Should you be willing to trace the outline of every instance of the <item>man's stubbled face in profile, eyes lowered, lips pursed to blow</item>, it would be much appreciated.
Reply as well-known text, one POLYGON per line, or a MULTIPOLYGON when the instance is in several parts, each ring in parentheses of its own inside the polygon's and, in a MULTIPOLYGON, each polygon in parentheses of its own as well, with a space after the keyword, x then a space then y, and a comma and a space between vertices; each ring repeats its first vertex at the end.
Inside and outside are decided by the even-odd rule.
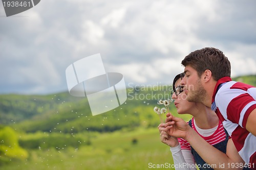
POLYGON ((181 81, 181 85, 184 86, 183 90, 187 94, 187 101, 203 103, 207 93, 202 85, 201 78, 198 77, 197 71, 191 66, 186 66, 184 73, 185 76, 181 81))

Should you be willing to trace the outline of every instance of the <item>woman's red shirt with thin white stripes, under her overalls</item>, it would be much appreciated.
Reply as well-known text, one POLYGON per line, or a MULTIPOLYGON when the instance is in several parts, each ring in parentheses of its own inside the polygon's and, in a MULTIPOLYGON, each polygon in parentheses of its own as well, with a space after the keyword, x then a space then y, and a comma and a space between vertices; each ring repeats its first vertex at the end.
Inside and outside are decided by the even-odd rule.
MULTIPOLYGON (((198 133, 198 131, 195 127, 194 117, 192 118, 191 124, 192 124, 192 129, 194 129, 198 133)), ((224 127, 220 121, 219 121, 217 130, 212 135, 202 136, 200 133, 198 133, 198 134, 211 145, 215 145, 215 144, 220 143, 226 139, 226 133, 225 133, 224 127)), ((186 140, 184 140, 182 138, 178 138, 178 141, 180 143, 182 150, 191 150, 190 144, 186 140)))

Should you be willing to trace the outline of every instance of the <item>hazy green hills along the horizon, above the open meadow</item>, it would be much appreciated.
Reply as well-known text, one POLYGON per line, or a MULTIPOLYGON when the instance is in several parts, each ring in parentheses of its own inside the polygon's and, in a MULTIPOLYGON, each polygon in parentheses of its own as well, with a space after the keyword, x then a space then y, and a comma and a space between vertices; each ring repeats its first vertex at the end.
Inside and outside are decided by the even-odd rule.
MULTIPOLYGON (((256 75, 233 78, 256 86, 256 75)), ((25 132, 61 131, 76 133, 83 130, 115 131, 159 124, 153 108, 159 99, 170 98, 171 86, 139 86, 127 89, 127 100, 120 107, 92 116, 87 98, 77 98, 68 92, 49 95, 0 95, 0 124, 25 132)), ((176 109, 171 105, 173 114, 176 109)), ((183 116, 188 119, 189 116, 183 116)))

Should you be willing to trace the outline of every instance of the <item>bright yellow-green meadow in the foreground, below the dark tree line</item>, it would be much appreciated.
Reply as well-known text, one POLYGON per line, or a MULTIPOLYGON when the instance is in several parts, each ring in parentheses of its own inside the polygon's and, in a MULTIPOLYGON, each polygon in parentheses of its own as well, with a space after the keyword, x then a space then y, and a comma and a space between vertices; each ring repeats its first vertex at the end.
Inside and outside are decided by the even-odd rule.
MULTIPOLYGON (((82 133, 77 135, 88 136, 82 133)), ((90 145, 46 150, 38 148, 29 151, 27 160, 10 160, 1 169, 154 169, 150 165, 173 164, 169 147, 160 141, 157 128, 103 134, 94 132, 90 135, 90 145)))

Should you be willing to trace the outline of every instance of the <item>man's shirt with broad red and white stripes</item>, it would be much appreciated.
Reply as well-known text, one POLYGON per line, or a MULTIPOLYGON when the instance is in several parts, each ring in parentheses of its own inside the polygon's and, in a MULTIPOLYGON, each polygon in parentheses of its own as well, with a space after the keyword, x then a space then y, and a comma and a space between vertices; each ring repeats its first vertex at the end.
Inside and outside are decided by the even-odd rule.
MULTIPOLYGON (((221 78, 215 87, 212 103, 224 128, 231 136, 239 155, 245 163, 256 165, 256 136, 245 129, 247 118, 256 109, 256 87, 221 78), (225 83, 226 82, 226 83, 225 83), (217 91, 220 84, 225 83, 217 91)), ((256 128, 256 125, 255 125, 256 128)))

